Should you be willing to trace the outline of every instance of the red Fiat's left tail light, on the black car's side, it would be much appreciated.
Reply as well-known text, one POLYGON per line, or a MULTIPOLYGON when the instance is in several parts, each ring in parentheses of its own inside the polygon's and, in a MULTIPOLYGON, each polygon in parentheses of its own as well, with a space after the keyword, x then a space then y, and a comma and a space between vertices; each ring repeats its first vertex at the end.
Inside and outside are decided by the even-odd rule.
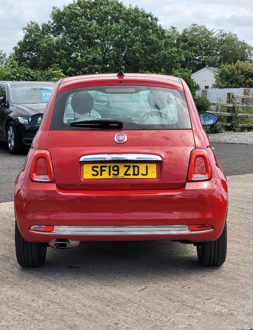
POLYGON ((30 178, 35 182, 54 182, 51 154, 48 150, 36 150, 33 156, 30 178))

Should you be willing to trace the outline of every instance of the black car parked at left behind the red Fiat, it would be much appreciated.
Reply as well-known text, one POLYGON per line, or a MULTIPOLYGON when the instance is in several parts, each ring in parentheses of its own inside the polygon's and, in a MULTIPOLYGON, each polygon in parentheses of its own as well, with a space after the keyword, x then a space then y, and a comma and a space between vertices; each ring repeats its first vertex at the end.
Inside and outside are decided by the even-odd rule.
POLYGON ((0 140, 10 153, 30 147, 38 126, 28 118, 43 114, 55 82, 0 81, 0 140))

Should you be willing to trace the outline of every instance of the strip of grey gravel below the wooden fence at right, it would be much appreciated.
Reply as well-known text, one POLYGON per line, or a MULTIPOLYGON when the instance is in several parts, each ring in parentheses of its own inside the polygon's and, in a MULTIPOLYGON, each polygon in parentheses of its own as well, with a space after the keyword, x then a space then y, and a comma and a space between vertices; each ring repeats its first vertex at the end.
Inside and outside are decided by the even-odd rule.
POLYGON ((253 132, 248 133, 217 133, 208 134, 211 142, 225 142, 225 143, 244 143, 253 144, 253 132))

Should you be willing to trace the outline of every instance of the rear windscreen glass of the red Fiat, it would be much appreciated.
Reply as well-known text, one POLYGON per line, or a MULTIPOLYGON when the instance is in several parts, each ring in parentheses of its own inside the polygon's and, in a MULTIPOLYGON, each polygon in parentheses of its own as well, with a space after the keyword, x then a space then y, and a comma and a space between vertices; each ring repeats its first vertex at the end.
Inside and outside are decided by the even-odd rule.
POLYGON ((59 92, 51 129, 92 129, 70 123, 116 119, 123 129, 189 129, 191 120, 182 91, 148 86, 99 86, 59 92))

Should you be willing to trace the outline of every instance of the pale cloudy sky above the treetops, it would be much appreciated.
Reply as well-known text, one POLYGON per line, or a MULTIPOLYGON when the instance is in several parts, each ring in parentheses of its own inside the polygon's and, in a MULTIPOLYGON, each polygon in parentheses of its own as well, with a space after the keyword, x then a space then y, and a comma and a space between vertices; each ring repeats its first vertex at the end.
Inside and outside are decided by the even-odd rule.
MULTIPOLYGON (((52 7, 72 0, 0 0, 0 49, 9 54, 22 39, 29 21, 42 23, 50 18, 52 7)), ((159 23, 180 32, 192 23, 236 33, 253 46, 253 0, 123 0, 152 12, 159 23)))

